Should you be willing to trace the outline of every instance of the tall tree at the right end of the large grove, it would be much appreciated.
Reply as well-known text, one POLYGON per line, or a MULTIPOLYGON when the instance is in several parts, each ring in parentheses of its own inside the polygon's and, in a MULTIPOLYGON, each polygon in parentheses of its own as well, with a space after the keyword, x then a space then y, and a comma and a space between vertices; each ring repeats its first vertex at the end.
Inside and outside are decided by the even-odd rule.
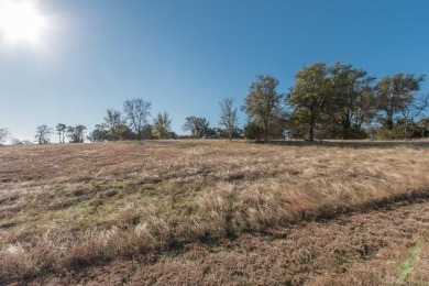
POLYGON ((425 76, 397 74, 382 78, 375 86, 377 108, 384 112, 383 125, 388 130, 394 128, 394 118, 415 100, 414 92, 420 90, 425 76))

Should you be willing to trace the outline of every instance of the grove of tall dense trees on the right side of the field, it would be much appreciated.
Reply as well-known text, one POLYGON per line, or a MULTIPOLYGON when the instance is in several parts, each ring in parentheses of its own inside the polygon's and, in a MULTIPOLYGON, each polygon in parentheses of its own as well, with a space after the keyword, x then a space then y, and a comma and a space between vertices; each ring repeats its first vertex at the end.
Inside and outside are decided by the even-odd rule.
POLYGON ((425 76, 396 74, 378 81, 341 62, 304 66, 287 94, 278 80, 257 76, 243 110, 251 139, 409 139, 428 138, 429 95, 418 95, 425 76))

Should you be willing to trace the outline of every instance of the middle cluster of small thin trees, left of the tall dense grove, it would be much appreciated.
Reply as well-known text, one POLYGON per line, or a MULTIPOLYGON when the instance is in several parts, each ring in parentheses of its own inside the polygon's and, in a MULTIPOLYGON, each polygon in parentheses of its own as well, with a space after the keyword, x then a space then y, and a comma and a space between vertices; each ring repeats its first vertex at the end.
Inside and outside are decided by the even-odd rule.
MULTIPOLYGON (((187 117, 182 128, 189 131, 190 138, 229 138, 240 135, 237 108, 233 99, 226 98, 219 102, 221 114, 219 128, 210 128, 206 118, 187 117)), ((177 139, 172 131, 172 119, 168 112, 158 112, 150 122, 152 105, 141 98, 125 100, 123 110, 108 109, 103 122, 87 136, 91 142, 119 140, 177 139)))

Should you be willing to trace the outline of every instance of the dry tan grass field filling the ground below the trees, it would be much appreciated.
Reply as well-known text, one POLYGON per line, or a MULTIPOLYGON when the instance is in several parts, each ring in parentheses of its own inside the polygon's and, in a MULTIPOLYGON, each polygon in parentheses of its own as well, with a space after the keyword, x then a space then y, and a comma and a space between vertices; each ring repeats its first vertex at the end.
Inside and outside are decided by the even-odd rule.
MULTIPOLYGON (((414 271, 427 265, 418 258, 427 257, 428 250, 425 202, 416 205, 418 210, 405 210, 416 212, 417 224, 391 220, 386 227, 386 217, 374 222, 375 227, 369 223, 367 229, 346 232, 331 229, 333 222, 323 223, 342 213, 358 213, 353 216, 359 221, 374 209, 426 201, 428 174, 428 142, 145 141, 3 146, 0 284, 65 277, 118 263, 131 263, 130 271, 146 267, 148 273, 141 282, 162 284, 168 273, 176 273, 172 278, 180 277, 186 267, 178 271, 178 265, 187 262, 189 266, 188 256, 194 255, 194 261, 204 260, 200 276, 182 276, 206 284, 323 285, 350 277, 356 283, 364 277, 346 275, 349 270, 363 273, 384 265, 372 272, 375 276, 370 283, 425 285, 429 274, 414 271), (385 231, 383 235, 378 229, 385 231), (377 232, 377 239, 366 231, 377 232), (296 244, 287 240, 290 233, 296 244), (267 238, 279 245, 289 241, 286 244, 295 245, 293 252, 277 245, 285 253, 276 256, 280 252, 273 252, 274 246, 270 250, 267 238), (337 250, 334 245, 348 246, 337 250), (223 256, 211 255, 211 251, 223 256), (256 263, 256 268, 216 272, 219 264, 237 268, 239 261, 227 260, 234 251, 246 258, 254 253, 253 260, 242 264, 256 263), (396 253, 387 255, 392 262, 387 266, 383 251, 396 253), (264 261, 256 258, 260 255, 264 261), (264 273, 270 260, 277 265, 275 276, 264 273), (256 270, 272 280, 249 274, 256 270), (213 279, 213 275, 224 277, 213 279)), ((358 222, 351 226, 359 228, 358 222)))

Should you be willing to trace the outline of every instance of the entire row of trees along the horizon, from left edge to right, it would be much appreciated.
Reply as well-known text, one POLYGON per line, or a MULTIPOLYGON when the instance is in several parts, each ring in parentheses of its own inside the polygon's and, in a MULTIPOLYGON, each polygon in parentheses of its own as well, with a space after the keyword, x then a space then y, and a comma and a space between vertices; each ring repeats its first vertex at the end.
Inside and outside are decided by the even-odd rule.
MULTIPOLYGON (((238 125, 238 108, 232 97, 219 102, 219 121, 211 128, 206 118, 187 117, 182 128, 190 138, 272 139, 410 139, 429 136, 427 117, 429 95, 418 94, 425 76, 396 74, 380 80, 362 68, 338 62, 304 66, 295 75, 287 92, 277 91, 279 81, 260 75, 250 85, 241 110, 248 121, 238 125)), ((58 142, 80 143, 119 140, 176 139, 168 112, 158 112, 150 121, 152 103, 141 98, 123 102, 123 109, 106 110, 103 121, 87 136, 86 127, 55 128, 58 142)), ((37 127, 35 142, 50 143, 52 128, 37 127)), ((10 131, 0 128, 0 142, 10 131)), ((16 141, 12 143, 29 143, 16 141)))

